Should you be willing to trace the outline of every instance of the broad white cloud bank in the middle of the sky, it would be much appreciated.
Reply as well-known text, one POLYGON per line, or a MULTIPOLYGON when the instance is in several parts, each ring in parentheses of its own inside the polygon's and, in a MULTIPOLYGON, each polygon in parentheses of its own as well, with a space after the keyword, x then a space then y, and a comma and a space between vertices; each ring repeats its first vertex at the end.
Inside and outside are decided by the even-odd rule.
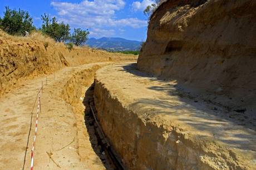
POLYGON ((51 2, 57 11, 57 19, 72 27, 89 28, 91 35, 110 36, 110 27, 146 27, 147 21, 138 18, 116 19, 115 12, 125 7, 123 0, 83 0, 80 3, 51 2), (96 33, 99 32, 99 33, 96 33))

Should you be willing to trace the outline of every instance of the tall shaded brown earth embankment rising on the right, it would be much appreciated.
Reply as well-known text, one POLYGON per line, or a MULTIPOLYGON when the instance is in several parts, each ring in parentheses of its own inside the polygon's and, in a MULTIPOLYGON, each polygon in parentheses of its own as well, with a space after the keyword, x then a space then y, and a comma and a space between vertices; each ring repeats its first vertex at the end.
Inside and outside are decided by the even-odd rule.
POLYGON ((210 100, 229 110, 253 114, 255 8, 250 0, 164 2, 151 17, 139 69, 189 85, 195 94, 214 94, 210 100))

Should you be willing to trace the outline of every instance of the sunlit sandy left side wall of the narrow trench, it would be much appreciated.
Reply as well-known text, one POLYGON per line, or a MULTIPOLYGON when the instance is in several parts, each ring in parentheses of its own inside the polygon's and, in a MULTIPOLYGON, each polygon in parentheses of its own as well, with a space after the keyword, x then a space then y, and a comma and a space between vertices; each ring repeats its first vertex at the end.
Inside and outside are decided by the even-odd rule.
MULTIPOLYGON (((85 108, 85 105, 83 104, 84 101, 81 99, 87 97, 85 96, 85 91, 93 83, 95 71, 107 64, 110 63, 88 64, 87 68, 76 71, 75 74, 67 79, 66 83, 63 85, 61 93, 61 98, 70 105, 68 108, 74 112, 76 117, 78 154, 81 157, 81 161, 86 163, 94 160, 94 162, 90 162, 91 169, 106 169, 103 166, 104 163, 101 162, 99 157, 96 157, 96 154, 105 159, 106 156, 101 154, 100 148, 97 148, 97 150, 93 148, 94 151, 92 150, 92 145, 97 146, 97 138, 95 135, 90 135, 90 137, 88 137, 88 133, 94 134, 95 132, 93 127, 85 125, 85 109, 88 108, 85 108)), ((86 123, 88 124, 88 122, 86 123)))

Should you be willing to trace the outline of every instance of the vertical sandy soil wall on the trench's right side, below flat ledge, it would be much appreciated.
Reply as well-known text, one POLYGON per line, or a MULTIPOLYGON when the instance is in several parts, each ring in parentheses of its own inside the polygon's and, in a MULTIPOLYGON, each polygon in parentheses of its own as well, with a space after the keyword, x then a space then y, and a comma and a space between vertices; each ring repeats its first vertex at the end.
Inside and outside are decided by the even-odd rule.
POLYGON ((161 116, 151 119, 122 96, 96 76, 94 100, 102 129, 128 169, 250 169, 230 148, 186 133, 161 116))

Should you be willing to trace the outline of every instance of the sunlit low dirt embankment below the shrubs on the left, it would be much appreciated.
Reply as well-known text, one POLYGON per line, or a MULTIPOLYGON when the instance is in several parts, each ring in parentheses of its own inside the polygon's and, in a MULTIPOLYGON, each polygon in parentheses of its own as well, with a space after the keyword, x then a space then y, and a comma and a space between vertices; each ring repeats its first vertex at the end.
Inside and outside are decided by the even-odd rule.
POLYGON ((29 37, 13 37, 0 30, 0 94, 8 92, 23 79, 50 74, 63 66, 105 61, 134 60, 136 56, 74 47, 34 33, 29 37))

